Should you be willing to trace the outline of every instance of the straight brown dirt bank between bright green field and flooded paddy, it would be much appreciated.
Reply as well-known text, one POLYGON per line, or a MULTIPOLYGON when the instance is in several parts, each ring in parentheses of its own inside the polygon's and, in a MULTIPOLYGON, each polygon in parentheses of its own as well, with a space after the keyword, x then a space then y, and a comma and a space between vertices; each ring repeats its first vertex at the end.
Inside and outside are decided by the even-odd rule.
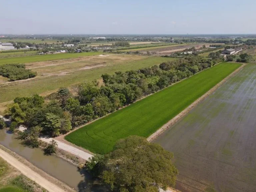
POLYGON ((241 67, 236 69, 233 73, 231 73, 229 76, 227 76, 225 79, 223 79, 221 82, 219 82, 217 85, 215 85, 213 88, 211 88, 209 91, 207 91, 203 96, 199 97, 196 101, 194 101, 191 105, 189 105, 186 109, 184 109, 181 113, 176 115, 174 118, 172 118, 169 122, 164 124, 160 129, 158 129, 155 133, 150 135, 147 140, 149 142, 152 142, 154 139, 156 139, 159 135, 161 135, 164 131, 169 129, 172 125, 174 125, 177 121, 179 121, 182 117, 184 117, 189 111, 191 111, 196 105, 198 105, 201 101, 203 101, 206 97, 211 95, 216 89, 218 89, 223 83, 225 83, 228 79, 230 79, 232 76, 237 74, 246 64, 243 63, 241 67))

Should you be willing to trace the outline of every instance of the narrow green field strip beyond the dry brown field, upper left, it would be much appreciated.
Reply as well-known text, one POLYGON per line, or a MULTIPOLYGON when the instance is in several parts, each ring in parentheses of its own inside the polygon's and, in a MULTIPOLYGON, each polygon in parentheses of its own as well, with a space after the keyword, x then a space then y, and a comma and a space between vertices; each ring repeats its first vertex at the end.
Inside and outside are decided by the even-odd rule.
POLYGON ((58 53, 49 55, 32 55, 25 57, 12 57, 12 58, 0 58, 0 65, 9 63, 32 63, 38 61, 51 61, 58 59, 70 59, 82 56, 99 55, 100 52, 88 52, 88 53, 58 53))

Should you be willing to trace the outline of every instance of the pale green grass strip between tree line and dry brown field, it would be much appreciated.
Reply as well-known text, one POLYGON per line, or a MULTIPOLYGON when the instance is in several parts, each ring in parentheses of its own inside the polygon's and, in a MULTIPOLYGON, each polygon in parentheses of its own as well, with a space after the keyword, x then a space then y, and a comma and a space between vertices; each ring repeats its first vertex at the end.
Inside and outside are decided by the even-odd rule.
MULTIPOLYGON (((69 87, 73 84, 100 79, 104 73, 112 74, 116 71, 137 70, 143 67, 159 65, 162 62, 172 61, 173 58, 142 56, 140 60, 115 63, 106 67, 83 70, 65 76, 50 76, 47 78, 34 78, 29 81, 0 87, 0 103, 10 101, 18 96, 30 96, 56 90, 60 87, 69 87)), ((72 65, 71 65, 72 68, 72 65)))

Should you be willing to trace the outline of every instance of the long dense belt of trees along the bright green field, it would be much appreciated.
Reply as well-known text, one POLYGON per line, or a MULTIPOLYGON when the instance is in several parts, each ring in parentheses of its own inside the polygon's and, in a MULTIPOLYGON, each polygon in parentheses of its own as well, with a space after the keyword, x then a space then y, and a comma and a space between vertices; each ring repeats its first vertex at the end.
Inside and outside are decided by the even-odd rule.
POLYGON ((75 96, 68 88, 60 88, 45 99, 39 95, 17 97, 5 115, 12 119, 11 130, 20 124, 29 127, 32 140, 40 133, 56 137, 220 61, 187 57, 136 71, 103 74, 104 85, 96 81, 78 84, 75 96))

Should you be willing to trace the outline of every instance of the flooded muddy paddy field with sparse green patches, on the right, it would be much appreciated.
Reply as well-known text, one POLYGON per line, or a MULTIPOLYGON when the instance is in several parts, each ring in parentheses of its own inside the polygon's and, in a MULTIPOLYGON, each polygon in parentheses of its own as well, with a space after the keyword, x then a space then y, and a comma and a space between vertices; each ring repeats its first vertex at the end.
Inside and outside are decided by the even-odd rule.
POLYGON ((247 64, 155 142, 172 151, 181 191, 256 189, 256 65, 247 64))

